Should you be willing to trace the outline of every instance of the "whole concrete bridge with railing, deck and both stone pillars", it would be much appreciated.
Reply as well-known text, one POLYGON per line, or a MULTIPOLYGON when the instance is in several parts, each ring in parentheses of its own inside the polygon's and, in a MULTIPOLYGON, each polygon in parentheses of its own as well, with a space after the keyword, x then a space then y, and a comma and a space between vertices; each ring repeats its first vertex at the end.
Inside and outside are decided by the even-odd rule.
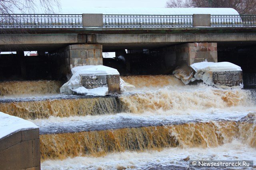
POLYGON ((0 51, 47 51, 63 57, 67 70, 103 64, 102 51, 125 55, 124 49, 129 53, 158 49, 167 65, 174 66, 205 59, 217 62, 217 45, 221 50, 256 45, 256 15, 1 14, 0 18, 0 51))

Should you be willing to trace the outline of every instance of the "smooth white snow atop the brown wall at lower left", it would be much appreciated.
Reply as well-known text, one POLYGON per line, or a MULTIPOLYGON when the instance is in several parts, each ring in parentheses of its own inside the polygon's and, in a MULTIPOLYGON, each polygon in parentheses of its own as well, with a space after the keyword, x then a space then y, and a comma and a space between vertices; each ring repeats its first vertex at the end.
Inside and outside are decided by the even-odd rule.
POLYGON ((0 139, 16 131, 38 128, 34 123, 0 112, 0 139))

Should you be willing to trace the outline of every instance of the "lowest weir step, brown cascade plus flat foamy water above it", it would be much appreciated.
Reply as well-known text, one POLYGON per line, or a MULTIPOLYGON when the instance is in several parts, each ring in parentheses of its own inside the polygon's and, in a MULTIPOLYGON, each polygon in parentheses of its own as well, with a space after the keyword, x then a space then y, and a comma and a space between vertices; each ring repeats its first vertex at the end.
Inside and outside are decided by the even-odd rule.
POLYGON ((105 122, 90 119, 39 123, 41 158, 104 156, 111 152, 161 150, 166 147, 217 147, 234 137, 246 137, 244 134, 253 129, 255 119, 255 115, 212 121, 188 120, 188 116, 174 121, 172 116, 166 117, 134 116, 132 119, 132 116, 120 116, 119 119, 102 118, 106 119, 105 122))

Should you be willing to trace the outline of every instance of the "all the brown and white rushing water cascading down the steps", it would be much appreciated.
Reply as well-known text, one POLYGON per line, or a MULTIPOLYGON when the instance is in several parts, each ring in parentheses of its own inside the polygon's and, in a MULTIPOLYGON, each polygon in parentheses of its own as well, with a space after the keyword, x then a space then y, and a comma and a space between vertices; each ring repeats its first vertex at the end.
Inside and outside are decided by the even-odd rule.
POLYGON ((100 98, 56 94, 45 90, 47 81, 26 96, 14 83, 14 89, 0 89, 0 111, 40 127, 42 169, 186 169, 188 158, 256 161, 253 90, 185 86, 167 75, 122 79, 135 88, 100 98))

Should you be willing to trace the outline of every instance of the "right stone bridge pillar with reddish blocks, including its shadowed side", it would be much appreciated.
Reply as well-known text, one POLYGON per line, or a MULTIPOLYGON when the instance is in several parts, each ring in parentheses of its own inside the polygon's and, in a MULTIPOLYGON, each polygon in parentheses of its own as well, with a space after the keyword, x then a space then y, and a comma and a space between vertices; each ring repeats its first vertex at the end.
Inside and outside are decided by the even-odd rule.
POLYGON ((199 63, 202 61, 218 62, 217 43, 186 43, 176 45, 176 59, 178 64, 199 63))

